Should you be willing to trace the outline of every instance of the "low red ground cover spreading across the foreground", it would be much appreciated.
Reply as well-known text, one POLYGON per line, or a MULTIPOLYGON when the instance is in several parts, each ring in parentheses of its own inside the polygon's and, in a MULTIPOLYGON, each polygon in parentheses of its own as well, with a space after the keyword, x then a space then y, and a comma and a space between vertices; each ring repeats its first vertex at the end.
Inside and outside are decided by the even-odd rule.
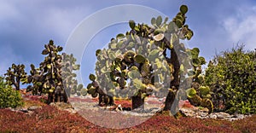
MULTIPOLYGON (((156 114, 143 124, 115 130, 88 122, 79 113, 71 114, 39 101, 26 101, 28 105, 43 106, 28 115, 0 109, 0 132, 256 132, 256 115, 237 121, 218 119, 174 119, 156 114)), ((99 119, 100 120, 100 119, 99 119)))

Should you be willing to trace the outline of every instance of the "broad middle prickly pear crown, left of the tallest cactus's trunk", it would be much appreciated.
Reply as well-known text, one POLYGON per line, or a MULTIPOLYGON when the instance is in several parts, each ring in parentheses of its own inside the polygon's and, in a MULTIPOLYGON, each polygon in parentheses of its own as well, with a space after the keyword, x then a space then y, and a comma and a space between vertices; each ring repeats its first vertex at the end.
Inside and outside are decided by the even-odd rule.
MULTIPOLYGON (((154 36, 154 27, 144 24, 136 26, 134 21, 130 21, 130 26, 130 32, 111 39, 108 49, 96 51, 95 77, 100 90, 105 95, 137 96, 142 100, 153 93, 158 96, 166 94, 163 92, 168 91, 169 84, 166 83, 173 78, 173 66, 165 60, 162 54, 164 49, 154 44, 154 38, 148 37, 149 34, 154 36)), ((142 105, 133 108, 139 106, 142 105)))

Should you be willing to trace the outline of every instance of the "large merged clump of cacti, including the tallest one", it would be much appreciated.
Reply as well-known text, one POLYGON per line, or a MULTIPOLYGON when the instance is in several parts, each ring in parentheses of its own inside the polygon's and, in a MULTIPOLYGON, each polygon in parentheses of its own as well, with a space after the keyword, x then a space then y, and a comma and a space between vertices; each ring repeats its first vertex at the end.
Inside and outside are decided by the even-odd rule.
POLYGON ((212 112, 208 87, 202 86, 201 65, 206 61, 199 57, 199 49, 186 49, 180 42, 193 36, 185 25, 187 11, 182 5, 170 22, 158 16, 152 18, 151 26, 130 20, 130 32, 112 38, 108 49, 96 50, 96 75, 90 74, 87 92, 93 97, 99 94, 100 104, 113 104, 113 97, 129 97, 133 109, 143 107, 148 95, 167 96, 166 110, 175 99, 188 95, 192 104, 212 112))

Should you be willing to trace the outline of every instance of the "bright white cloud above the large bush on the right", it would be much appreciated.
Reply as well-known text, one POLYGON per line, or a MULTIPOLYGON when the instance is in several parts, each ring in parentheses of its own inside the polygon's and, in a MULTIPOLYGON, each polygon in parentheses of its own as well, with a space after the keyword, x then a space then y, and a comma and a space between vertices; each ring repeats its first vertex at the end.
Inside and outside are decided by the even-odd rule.
POLYGON ((256 6, 241 7, 236 15, 226 18, 223 27, 232 43, 244 43, 247 49, 256 48, 256 6))

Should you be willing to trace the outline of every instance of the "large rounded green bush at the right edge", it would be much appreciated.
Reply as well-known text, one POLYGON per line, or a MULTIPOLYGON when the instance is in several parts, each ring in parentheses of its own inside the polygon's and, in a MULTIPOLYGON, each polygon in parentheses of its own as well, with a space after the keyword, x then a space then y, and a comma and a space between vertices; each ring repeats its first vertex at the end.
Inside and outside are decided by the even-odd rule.
POLYGON ((209 62, 206 84, 215 108, 227 113, 256 113, 256 52, 238 46, 209 62))

